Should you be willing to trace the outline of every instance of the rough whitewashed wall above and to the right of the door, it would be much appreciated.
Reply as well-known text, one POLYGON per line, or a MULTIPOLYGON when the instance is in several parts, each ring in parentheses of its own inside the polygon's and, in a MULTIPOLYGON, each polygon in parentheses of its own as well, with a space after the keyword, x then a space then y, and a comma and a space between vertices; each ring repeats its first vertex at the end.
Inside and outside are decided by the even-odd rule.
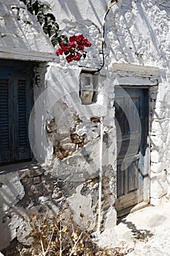
MULTIPOLYGON (((52 5, 66 34, 81 31, 93 43, 92 48, 88 49, 88 58, 80 65, 98 68, 102 63, 102 24, 108 3, 58 1, 52 5)), ((140 79, 146 77, 144 72, 139 75, 140 66, 147 67, 150 78, 152 67, 160 69, 156 75, 158 86, 150 87, 151 203, 160 203, 163 195, 169 197, 169 7, 169 1, 163 0, 120 0, 109 11, 104 30, 105 66, 101 74, 112 80, 113 87, 114 83, 121 86, 123 78, 127 81, 131 77, 128 66, 121 67, 121 64, 135 64, 133 76, 140 79), (115 63, 120 64, 115 68, 116 74, 115 63)), ((61 66, 68 67, 63 56, 60 61, 61 66)))

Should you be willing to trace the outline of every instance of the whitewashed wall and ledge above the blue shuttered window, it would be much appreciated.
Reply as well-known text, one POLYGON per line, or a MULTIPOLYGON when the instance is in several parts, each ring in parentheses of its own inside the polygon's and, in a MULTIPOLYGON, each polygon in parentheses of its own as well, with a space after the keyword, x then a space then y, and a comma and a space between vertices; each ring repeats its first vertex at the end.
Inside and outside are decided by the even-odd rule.
POLYGON ((0 1, 0 58, 52 61, 53 45, 19 0, 0 1))

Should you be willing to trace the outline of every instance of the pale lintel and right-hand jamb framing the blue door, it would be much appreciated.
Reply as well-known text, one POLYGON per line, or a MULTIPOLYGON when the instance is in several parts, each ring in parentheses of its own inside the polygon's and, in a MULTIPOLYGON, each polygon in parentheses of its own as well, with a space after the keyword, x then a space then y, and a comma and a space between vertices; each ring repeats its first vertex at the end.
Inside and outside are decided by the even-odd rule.
MULTIPOLYGON (((143 200, 144 202, 130 209, 131 212, 143 208, 150 203, 150 128, 151 128, 151 94, 158 91, 158 77, 161 73, 161 69, 155 67, 144 67, 136 64, 112 64, 112 80, 114 86, 133 86, 139 89, 148 89, 149 97, 149 117, 148 117, 148 136, 147 136, 147 155, 145 158, 144 175, 147 171, 147 177, 144 178, 143 200)), ((123 216, 127 212, 122 212, 123 216)))

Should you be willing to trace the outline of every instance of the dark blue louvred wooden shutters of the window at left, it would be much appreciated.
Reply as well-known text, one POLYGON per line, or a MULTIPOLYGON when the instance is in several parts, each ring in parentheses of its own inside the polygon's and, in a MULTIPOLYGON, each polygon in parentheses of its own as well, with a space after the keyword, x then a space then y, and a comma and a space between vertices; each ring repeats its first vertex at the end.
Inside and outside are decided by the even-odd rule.
POLYGON ((31 63, 0 61, 0 164, 31 159, 32 69, 31 63))

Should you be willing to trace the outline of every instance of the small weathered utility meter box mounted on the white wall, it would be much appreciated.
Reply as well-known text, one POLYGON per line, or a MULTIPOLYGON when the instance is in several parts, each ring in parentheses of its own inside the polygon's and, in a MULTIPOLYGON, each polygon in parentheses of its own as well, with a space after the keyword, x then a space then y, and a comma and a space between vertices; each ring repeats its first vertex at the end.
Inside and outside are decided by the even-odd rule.
POLYGON ((90 104, 93 101, 93 75, 80 74, 80 99, 82 104, 90 104))

